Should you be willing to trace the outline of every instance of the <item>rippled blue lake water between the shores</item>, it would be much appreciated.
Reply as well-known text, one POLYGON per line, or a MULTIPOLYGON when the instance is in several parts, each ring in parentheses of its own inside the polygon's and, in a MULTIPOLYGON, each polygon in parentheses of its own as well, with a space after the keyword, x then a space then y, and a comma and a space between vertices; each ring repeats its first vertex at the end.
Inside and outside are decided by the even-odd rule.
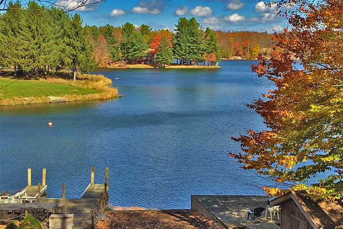
POLYGON ((221 70, 103 70, 126 97, 0 108, 0 190, 40 182, 48 196, 79 198, 110 171, 110 204, 190 208, 194 195, 263 195, 268 180, 240 169, 230 137, 264 128, 245 103, 270 84, 251 73, 256 61, 221 62, 221 70), (119 78, 119 79, 115 79, 119 78), (52 122, 53 127, 47 123, 52 122))

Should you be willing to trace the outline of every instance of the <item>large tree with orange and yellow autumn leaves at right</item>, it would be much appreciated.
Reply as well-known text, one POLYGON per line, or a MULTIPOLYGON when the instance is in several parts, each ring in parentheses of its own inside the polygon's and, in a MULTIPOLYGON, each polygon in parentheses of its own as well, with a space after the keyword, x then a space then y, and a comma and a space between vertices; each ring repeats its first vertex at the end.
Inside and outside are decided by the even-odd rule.
POLYGON ((314 200, 342 201, 342 0, 292 3, 297 4, 284 12, 292 29, 275 34, 271 59, 260 56, 252 66, 274 84, 248 105, 268 129, 233 137, 242 153, 230 155, 244 169, 289 185, 287 190, 265 187, 270 195, 306 189, 314 200), (301 67, 294 67, 294 57, 301 67))

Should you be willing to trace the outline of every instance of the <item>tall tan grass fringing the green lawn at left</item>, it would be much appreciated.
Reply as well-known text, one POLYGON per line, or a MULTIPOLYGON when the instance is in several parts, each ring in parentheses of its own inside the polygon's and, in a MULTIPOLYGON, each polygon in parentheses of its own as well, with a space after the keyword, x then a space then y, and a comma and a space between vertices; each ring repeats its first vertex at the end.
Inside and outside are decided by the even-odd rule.
MULTIPOLYGON (((2 79, 10 78, 0 78, 2 79)), ((12 79, 13 84, 15 85, 15 80, 12 79)), ((76 102, 76 101, 92 101, 92 100, 110 100, 123 97, 118 93, 117 88, 111 87, 112 80, 101 75, 83 75, 78 73, 77 80, 68 80, 63 78, 52 78, 39 79, 39 80, 18 80, 18 81, 27 81, 27 82, 37 82, 37 83, 46 83, 46 85, 51 84, 50 86, 62 86, 67 85, 71 86, 74 91, 76 89, 90 89, 90 91, 97 91, 96 93, 89 94, 59 94, 54 95, 42 95, 42 96, 14 96, 10 98, 0 98, 0 107, 1 106, 13 106, 13 105, 25 105, 25 104, 36 104, 36 103, 53 103, 51 98, 56 97, 60 102, 76 102), (48 83, 48 84, 47 84, 48 83)))

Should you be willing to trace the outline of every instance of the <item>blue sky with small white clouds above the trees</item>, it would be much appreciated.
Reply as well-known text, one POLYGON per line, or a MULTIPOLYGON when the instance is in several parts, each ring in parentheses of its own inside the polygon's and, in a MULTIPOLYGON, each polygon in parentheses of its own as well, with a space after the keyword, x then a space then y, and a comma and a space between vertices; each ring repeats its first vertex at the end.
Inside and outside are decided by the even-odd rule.
POLYGON ((78 13, 87 25, 120 26, 130 22, 171 30, 179 17, 195 17, 214 30, 272 32, 287 26, 276 11, 276 5, 266 7, 259 0, 106 0, 93 8, 81 8, 78 13))

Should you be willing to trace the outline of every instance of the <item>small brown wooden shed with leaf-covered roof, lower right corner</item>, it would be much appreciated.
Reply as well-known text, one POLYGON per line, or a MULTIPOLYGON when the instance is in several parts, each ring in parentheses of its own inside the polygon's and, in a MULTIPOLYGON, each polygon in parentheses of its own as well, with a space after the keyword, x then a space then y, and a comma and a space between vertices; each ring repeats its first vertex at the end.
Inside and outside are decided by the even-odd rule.
POLYGON ((343 204, 314 202, 306 191, 291 191, 270 202, 281 207, 281 229, 343 229, 343 204))

